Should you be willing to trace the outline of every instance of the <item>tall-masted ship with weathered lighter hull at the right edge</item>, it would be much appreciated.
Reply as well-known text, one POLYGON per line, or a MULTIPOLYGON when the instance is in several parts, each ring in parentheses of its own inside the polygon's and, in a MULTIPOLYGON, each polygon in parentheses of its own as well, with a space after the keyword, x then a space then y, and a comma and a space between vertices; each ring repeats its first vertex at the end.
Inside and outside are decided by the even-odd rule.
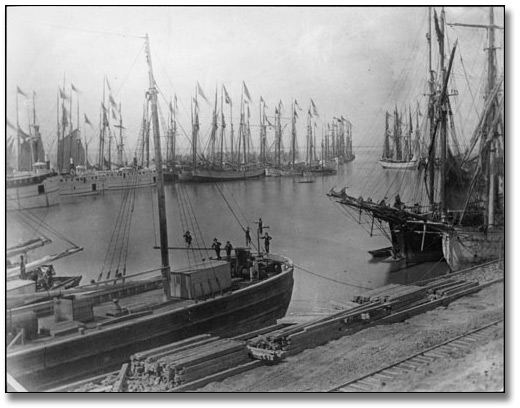
POLYGON ((495 24, 493 7, 487 25, 453 25, 484 28, 488 34, 484 109, 462 164, 472 174, 470 188, 462 210, 449 214, 443 231, 444 257, 452 270, 459 270, 504 257, 504 75, 495 44, 503 27, 495 24))

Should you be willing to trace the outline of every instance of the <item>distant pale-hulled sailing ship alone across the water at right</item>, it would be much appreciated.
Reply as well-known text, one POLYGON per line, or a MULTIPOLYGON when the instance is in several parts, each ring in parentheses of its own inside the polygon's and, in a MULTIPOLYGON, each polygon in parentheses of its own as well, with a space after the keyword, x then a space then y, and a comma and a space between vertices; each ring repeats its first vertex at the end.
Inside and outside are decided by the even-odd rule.
MULTIPOLYGON (((411 114, 410 114, 411 116, 411 114)), ((419 162, 419 140, 412 140, 413 124, 410 117, 409 131, 403 135, 402 115, 395 108, 393 115, 393 132, 390 131, 391 115, 385 113, 385 139, 383 145, 383 156, 379 164, 384 169, 406 170, 416 169, 419 162)))

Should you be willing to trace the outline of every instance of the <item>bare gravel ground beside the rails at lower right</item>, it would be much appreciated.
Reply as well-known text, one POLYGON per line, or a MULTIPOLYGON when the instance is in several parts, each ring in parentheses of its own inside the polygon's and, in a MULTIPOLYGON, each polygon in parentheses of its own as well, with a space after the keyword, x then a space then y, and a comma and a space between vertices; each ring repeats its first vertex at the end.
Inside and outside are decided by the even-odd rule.
MULTIPOLYGON (((478 280, 503 276, 491 266, 478 280)), ((468 278, 468 276, 466 276, 468 278)), ((376 326, 212 383, 198 392, 322 392, 413 352, 447 341, 504 317, 504 284, 492 284, 402 323, 376 326)), ((500 392, 504 389, 504 330, 495 328, 471 350, 453 353, 404 377, 382 384, 378 392, 500 392)))

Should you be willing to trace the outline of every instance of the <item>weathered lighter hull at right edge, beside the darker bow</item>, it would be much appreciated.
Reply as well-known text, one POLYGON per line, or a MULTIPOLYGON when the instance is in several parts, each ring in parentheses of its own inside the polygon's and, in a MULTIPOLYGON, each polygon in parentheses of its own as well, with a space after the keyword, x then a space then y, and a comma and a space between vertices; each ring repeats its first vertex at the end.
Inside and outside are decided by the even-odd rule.
POLYGON ((457 228, 443 235, 442 249, 452 271, 504 257, 504 229, 487 232, 457 228))

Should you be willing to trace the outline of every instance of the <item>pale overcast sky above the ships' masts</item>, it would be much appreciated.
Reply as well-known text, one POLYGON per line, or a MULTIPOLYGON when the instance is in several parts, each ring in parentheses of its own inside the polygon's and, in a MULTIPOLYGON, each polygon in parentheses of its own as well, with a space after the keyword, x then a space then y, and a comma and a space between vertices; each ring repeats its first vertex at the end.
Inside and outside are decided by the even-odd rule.
MULTIPOLYGON (((501 12, 497 10, 496 19, 503 24, 501 12)), ((447 8, 446 14, 448 21, 466 23, 484 24, 488 18, 487 10, 478 7, 447 8)), ((245 81, 253 99, 252 124, 258 123, 260 96, 269 107, 269 116, 282 100, 287 118, 296 98, 304 109, 298 127, 304 133, 312 98, 320 114, 316 118, 319 128, 333 116, 343 115, 353 123, 354 145, 379 146, 384 111, 395 105, 413 107, 424 99, 427 21, 425 7, 9 8, 7 116, 16 122, 17 86, 28 94, 36 92, 38 121, 50 149, 56 138, 56 95, 65 80, 67 91, 71 83, 81 91, 80 115, 85 113, 95 124, 96 129, 86 132, 96 145, 106 76, 116 101, 122 104, 130 153, 148 87, 142 38, 148 33, 161 98, 164 102, 177 95, 179 121, 187 133, 197 81, 211 103, 215 88, 225 84, 234 102, 235 126, 245 81)), ((447 29, 450 46, 461 39, 454 73, 461 97, 467 95, 467 84, 478 84, 483 74, 482 31, 447 29)), ((481 99, 481 88, 472 92, 473 98, 481 99)), ((19 103, 21 110, 27 109, 24 98, 19 103)), ((201 103, 203 135, 210 125, 211 109, 201 103)), ((73 112, 76 122, 75 106, 73 112)), ((24 113, 22 126, 27 121, 24 113)), ((80 122, 83 126, 83 119, 80 122)), ((252 129, 253 137, 257 132, 252 129)))

